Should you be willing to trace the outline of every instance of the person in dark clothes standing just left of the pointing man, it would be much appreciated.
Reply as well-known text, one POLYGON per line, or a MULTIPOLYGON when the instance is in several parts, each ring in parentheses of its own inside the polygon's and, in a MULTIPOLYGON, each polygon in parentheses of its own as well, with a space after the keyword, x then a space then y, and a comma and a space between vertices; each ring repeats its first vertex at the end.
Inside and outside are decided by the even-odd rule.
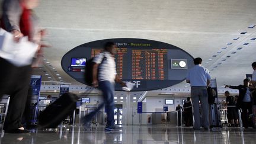
POLYGON ((238 111, 235 107, 235 98, 229 94, 229 91, 225 91, 226 105, 228 106, 228 121, 231 123, 231 127, 238 127, 238 111))

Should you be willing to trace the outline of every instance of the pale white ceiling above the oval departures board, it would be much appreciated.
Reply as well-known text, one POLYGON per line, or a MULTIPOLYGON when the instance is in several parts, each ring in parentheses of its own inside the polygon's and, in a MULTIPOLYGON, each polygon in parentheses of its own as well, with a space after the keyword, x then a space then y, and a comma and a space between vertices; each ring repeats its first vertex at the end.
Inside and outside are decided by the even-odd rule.
POLYGON ((256 27, 248 28, 256 25, 255 8, 255 0, 44 0, 36 14, 41 26, 47 28, 46 42, 52 47, 45 49, 44 66, 34 74, 48 81, 44 74, 49 73, 52 81, 59 81, 59 73, 63 81, 80 84, 60 66, 66 52, 89 41, 129 37, 178 46, 193 57, 201 57, 203 63, 209 62, 205 66, 213 69, 210 72, 219 87, 239 85, 246 73, 252 73, 251 63, 256 61, 256 40, 250 40, 256 37, 256 27), (243 31, 247 33, 240 34, 243 31))

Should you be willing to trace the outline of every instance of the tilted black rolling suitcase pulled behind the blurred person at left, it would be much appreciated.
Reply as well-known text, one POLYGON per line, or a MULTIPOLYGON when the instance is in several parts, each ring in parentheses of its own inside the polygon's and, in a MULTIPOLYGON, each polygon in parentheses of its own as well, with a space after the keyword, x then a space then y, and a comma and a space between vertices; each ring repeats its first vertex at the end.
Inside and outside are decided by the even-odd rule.
POLYGON ((78 97, 75 94, 65 93, 61 95, 55 102, 50 104, 39 115, 40 128, 56 128, 62 120, 72 114, 76 108, 78 97))

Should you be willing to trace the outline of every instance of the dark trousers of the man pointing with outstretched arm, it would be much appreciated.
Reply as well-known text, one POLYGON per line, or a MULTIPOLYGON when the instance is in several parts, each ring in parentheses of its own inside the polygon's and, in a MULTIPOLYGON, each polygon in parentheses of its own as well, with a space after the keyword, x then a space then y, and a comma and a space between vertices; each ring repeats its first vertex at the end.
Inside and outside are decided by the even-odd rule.
POLYGON ((242 102, 242 123, 244 127, 248 127, 252 124, 252 120, 249 120, 249 114, 252 114, 252 103, 251 102, 242 102), (248 113, 247 113, 248 110, 248 113))

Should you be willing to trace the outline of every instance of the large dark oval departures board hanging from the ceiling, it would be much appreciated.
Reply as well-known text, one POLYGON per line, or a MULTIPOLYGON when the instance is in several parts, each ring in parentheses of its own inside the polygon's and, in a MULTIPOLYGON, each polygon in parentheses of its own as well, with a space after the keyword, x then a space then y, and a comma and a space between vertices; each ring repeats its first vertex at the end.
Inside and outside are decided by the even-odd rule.
MULTIPOLYGON (((170 87, 184 81, 193 57, 168 43, 145 39, 105 39, 81 44, 62 57, 62 69, 72 78, 85 83, 87 60, 103 52, 107 41, 116 43, 117 75, 135 84, 132 91, 148 91, 170 87)), ((116 90, 122 91, 116 84, 116 90)))

